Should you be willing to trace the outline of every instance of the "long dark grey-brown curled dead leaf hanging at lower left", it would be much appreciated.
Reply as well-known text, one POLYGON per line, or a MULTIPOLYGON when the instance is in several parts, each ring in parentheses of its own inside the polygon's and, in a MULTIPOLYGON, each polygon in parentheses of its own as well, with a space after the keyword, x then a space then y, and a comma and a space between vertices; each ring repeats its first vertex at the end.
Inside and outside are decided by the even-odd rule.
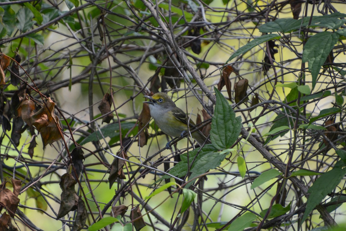
POLYGON ((60 180, 60 188, 62 190, 61 193, 61 204, 59 208, 58 215, 56 219, 60 219, 65 216, 70 211, 75 210, 78 207, 78 199, 79 197, 74 191, 74 185, 76 181, 74 180, 71 174, 65 173, 61 176, 60 180))

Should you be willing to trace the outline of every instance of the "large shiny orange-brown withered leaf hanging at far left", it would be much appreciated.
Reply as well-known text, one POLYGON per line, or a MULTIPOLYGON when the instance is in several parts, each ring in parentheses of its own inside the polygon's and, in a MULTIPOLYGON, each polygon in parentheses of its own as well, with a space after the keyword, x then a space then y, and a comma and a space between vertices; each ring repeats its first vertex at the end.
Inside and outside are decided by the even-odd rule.
POLYGON ((44 106, 31 116, 31 123, 41 133, 44 146, 61 139, 61 127, 58 118, 54 115, 54 105, 53 100, 48 98, 44 106))

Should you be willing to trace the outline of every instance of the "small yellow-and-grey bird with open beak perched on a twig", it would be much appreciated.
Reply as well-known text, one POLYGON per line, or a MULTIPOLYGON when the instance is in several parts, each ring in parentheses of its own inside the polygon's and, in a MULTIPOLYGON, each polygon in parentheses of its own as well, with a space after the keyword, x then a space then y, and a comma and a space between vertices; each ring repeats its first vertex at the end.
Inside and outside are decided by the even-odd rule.
MULTIPOLYGON (((182 109, 177 107, 173 100, 164 92, 155 93, 153 96, 144 96, 150 101, 144 103, 149 104, 150 114, 153 117, 157 126, 167 135, 174 137, 184 137, 189 130, 193 130, 196 125, 189 119, 182 109)), ((193 132, 192 138, 197 141, 199 145, 210 143, 210 140, 199 130, 193 132)), ((171 149, 170 142, 166 144, 167 149, 171 149)))

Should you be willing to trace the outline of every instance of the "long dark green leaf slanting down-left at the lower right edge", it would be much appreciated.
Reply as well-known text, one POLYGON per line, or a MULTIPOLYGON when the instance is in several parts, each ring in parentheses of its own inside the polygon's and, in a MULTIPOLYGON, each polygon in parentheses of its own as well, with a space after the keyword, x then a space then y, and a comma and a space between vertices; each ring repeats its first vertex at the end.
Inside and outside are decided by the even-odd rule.
POLYGON ((324 199, 328 193, 335 189, 335 187, 344 178, 345 174, 346 168, 334 168, 317 178, 317 180, 308 190, 310 195, 301 223, 308 218, 309 214, 316 207, 316 205, 321 203, 322 199, 324 199))

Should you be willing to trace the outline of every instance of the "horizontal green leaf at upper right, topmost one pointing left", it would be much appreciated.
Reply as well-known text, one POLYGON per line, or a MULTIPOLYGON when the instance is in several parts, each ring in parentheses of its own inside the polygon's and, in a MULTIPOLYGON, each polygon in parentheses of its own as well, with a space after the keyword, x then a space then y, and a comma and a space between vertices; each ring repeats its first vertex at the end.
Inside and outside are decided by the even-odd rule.
POLYGON ((273 33, 273 32, 282 32, 288 33, 293 30, 298 30, 301 26, 301 20, 292 19, 292 18, 281 18, 274 21, 259 26, 258 29, 262 33, 273 33))

